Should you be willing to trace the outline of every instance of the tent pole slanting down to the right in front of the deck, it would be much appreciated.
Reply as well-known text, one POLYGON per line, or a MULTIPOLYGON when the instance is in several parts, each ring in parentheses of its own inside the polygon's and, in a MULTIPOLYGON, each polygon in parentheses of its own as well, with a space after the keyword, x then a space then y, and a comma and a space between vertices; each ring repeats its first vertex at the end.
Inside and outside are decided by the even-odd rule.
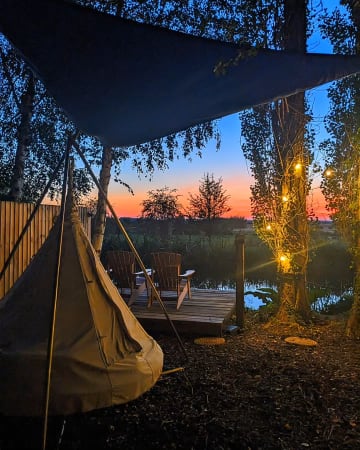
POLYGON ((74 142, 73 142, 73 146, 75 147, 75 149, 76 149, 76 151, 78 152, 80 158, 82 159, 83 163, 85 164, 86 169, 89 171, 89 173, 90 173, 90 175, 91 175, 91 177, 92 177, 94 183, 96 184, 97 188, 99 189, 99 192, 100 192, 101 195, 104 197, 104 199, 105 199, 105 201, 106 201, 106 204, 107 204, 108 208, 110 209, 111 214, 113 215, 113 218, 115 219, 118 228, 119 228, 119 229, 121 230, 121 232, 123 233, 123 235, 124 235, 124 237, 125 237, 125 239, 126 239, 128 245, 129 245, 131 251, 134 253, 135 258, 136 258, 136 260, 137 260, 137 262, 138 262, 138 264, 139 264, 141 270, 142 270, 143 273, 144 273, 144 276, 145 276, 145 278, 146 278, 146 281, 147 281, 147 282, 149 283, 149 285, 151 286, 152 292, 155 293, 156 300, 159 302, 159 304, 160 304, 160 306, 161 306, 161 309, 163 310, 163 312, 164 312, 164 314, 165 314, 167 320, 169 321, 169 323, 170 323, 170 325, 171 325, 171 328, 172 328, 172 330, 174 331, 175 336, 176 336, 176 338, 177 338, 177 340, 178 340, 178 342, 179 342, 179 344, 180 344, 180 347, 181 347, 181 349, 182 349, 182 351, 183 351, 183 353, 184 353, 184 355, 185 355, 185 358, 187 359, 186 350, 185 350, 185 347, 184 347, 184 345, 183 345, 183 343, 182 343, 182 341, 181 341, 181 339, 180 339, 179 333, 177 332, 177 330, 176 330, 176 328, 175 328, 175 326, 174 326, 174 324, 173 324, 173 321, 171 320, 171 318, 170 318, 168 312, 166 311, 164 302, 161 300, 160 294, 159 294, 158 290, 156 289, 156 287, 155 287, 155 285, 154 285, 154 282, 153 282, 152 278, 151 278, 150 275, 147 273, 146 267, 145 267, 145 265, 144 265, 144 263, 143 263, 143 261, 142 261, 140 255, 139 255, 138 251, 136 250, 136 248, 135 248, 135 246, 134 246, 134 244, 133 244, 133 242, 132 242, 130 236, 128 235, 126 229, 124 228, 124 225, 120 222, 119 218, 116 216, 116 213, 115 213, 114 208, 112 207, 111 203, 109 202, 109 200, 108 200, 108 198, 107 198, 107 195, 105 194, 104 190, 103 190, 102 187, 100 186, 100 183, 99 183, 98 179, 96 178, 96 176, 95 176, 95 174, 94 174, 94 172, 93 172, 93 170, 92 170, 90 164, 89 164, 88 161, 86 160, 84 153, 83 153, 82 150, 80 149, 79 144, 77 144, 77 143, 74 141, 74 142))

